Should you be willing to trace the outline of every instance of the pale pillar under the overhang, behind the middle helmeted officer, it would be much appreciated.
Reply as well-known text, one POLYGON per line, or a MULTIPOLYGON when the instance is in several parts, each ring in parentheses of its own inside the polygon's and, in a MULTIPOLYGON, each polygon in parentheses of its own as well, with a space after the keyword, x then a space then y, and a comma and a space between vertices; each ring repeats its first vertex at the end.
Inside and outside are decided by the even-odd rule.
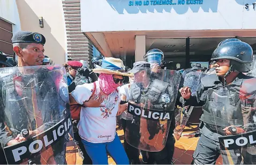
POLYGON ((146 35, 135 36, 135 62, 144 61, 143 56, 146 54, 146 35))

